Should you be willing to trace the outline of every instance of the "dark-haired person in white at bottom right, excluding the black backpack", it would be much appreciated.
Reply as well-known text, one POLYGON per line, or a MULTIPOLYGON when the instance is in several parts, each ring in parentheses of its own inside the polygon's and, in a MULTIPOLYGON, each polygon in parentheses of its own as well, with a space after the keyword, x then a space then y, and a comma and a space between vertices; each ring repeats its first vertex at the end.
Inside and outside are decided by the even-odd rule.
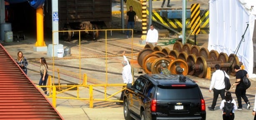
POLYGON ((227 92, 225 99, 221 101, 221 106, 220 109, 222 110, 222 118, 223 120, 234 120, 235 118, 235 110, 237 110, 237 106, 236 106, 236 101, 232 98, 231 93, 227 92), (223 112, 224 106, 225 106, 225 102, 228 103, 233 103, 233 110, 230 116, 227 116, 226 113, 223 112))

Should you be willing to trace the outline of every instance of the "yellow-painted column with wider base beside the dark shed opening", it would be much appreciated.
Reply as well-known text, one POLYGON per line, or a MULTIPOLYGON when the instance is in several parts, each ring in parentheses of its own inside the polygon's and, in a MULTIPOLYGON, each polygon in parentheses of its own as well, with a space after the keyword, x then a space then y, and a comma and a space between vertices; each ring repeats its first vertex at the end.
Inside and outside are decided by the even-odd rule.
POLYGON ((45 41, 43 39, 43 8, 40 7, 36 9, 36 32, 37 32, 37 40, 35 43, 36 47, 46 46, 45 41))

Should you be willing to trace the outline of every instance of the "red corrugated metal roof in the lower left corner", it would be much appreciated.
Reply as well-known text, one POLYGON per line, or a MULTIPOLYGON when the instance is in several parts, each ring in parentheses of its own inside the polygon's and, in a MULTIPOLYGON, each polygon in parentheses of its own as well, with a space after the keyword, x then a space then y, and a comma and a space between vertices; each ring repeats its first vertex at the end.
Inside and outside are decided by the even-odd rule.
POLYGON ((0 119, 63 120, 1 44, 0 119))

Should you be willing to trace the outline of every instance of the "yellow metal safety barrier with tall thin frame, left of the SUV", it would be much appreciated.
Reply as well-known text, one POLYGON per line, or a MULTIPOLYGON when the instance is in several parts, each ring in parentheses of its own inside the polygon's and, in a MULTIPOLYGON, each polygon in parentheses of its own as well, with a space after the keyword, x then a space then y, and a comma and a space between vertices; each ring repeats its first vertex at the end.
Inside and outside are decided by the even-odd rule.
MULTIPOLYGON (((132 36, 133 36, 133 29, 118 29, 119 31, 123 31, 123 30, 131 30, 132 31, 132 36)), ((57 68, 57 70, 55 70, 55 58, 53 55, 53 78, 49 75, 48 77, 48 84, 47 86, 38 86, 38 87, 48 87, 48 90, 50 92, 49 96, 47 97, 52 97, 53 99, 53 106, 56 107, 56 99, 75 99, 75 100, 90 100, 90 108, 93 108, 93 101, 94 100, 100 100, 100 101, 112 101, 112 102, 123 102, 120 100, 110 100, 111 97, 113 97, 114 95, 118 94, 119 92, 121 92, 122 90, 125 90, 125 88, 123 88, 122 90, 116 90, 116 92, 114 92, 112 95, 108 94, 108 87, 121 87, 121 86, 125 86, 126 84, 108 84, 108 61, 107 61, 107 31, 118 31, 118 30, 98 30, 98 31, 104 31, 105 32, 105 70, 106 70, 106 75, 105 75, 105 84, 93 84, 93 85, 88 85, 87 83, 87 74, 83 74, 83 82, 81 81, 81 53, 79 53, 79 79, 80 79, 80 83, 78 85, 61 85, 60 83, 60 69, 57 68), (58 85, 55 85, 54 83, 54 74, 55 72, 58 73, 58 85), (66 87, 66 89, 62 89, 66 87), (79 87, 83 87, 84 89, 89 89, 89 97, 88 98, 81 98, 80 97, 80 91, 84 90, 81 89, 79 87), (95 87, 104 87, 104 98, 95 98, 93 96, 93 90, 95 89, 95 87), (58 88, 58 91, 56 91, 58 88), (68 90, 72 90, 73 88, 77 88, 77 95, 75 97, 59 97, 58 94, 63 93, 63 92, 67 92, 68 90)), ((80 32, 85 32, 85 31, 96 31, 96 30, 69 30, 72 32, 79 32, 79 49, 80 49, 80 32)), ((69 32, 69 31, 53 31, 54 32, 69 32)), ((53 39, 54 40, 54 39, 53 39)), ((53 48, 54 50, 54 48, 53 48)), ((80 51, 80 50, 79 50, 80 51)), ((133 60, 133 37, 131 39, 131 56, 132 56, 132 60, 133 60)), ((54 54, 54 53, 53 53, 54 54)), ((84 94, 84 93, 83 93, 84 94)))

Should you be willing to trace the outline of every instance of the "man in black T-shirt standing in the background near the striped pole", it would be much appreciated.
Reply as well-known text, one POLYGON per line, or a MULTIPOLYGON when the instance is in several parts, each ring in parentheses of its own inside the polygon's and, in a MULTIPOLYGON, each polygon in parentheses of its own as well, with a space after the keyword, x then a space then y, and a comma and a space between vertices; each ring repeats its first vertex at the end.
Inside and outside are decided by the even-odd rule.
MULTIPOLYGON (((127 29, 133 29, 136 22, 136 12, 133 11, 133 6, 129 7, 129 11, 126 13, 126 25, 127 29)), ((129 38, 129 31, 126 32, 126 37, 129 38)))

